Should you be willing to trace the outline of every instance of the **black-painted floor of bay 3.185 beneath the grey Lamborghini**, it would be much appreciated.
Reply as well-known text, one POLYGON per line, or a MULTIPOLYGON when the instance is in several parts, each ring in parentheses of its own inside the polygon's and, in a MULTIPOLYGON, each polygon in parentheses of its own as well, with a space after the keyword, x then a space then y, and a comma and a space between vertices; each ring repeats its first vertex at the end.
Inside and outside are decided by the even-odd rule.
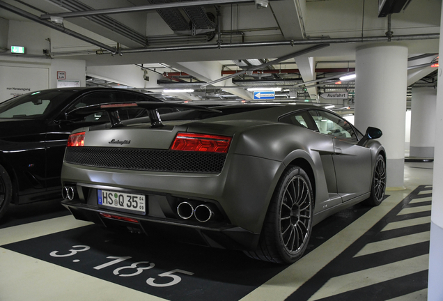
MULTIPOLYGON (((357 204, 314 226, 306 254, 352 224, 369 209, 370 207, 357 204)), ((287 267, 256 261, 242 252, 185 245, 169 240, 153 240, 143 235, 110 232, 95 225, 1 247, 167 300, 240 300, 287 267), (80 251, 85 247, 73 246, 88 246, 90 249, 80 251), (55 255, 59 257, 50 255, 54 251, 58 251, 55 255), (61 257, 66 254, 72 255, 61 257), (94 269, 119 260, 107 258, 109 256, 132 258, 100 270, 94 269), (141 261, 149 263, 139 263, 135 268, 117 270, 141 261), (137 268, 146 268, 150 263, 154 263, 155 267, 142 270, 139 275, 119 276, 133 274, 137 272, 137 268), (194 274, 174 273, 173 275, 179 276, 181 281, 173 286, 153 287, 146 283, 151 277, 155 278, 155 283, 162 280, 171 281, 172 277, 159 275, 176 269, 194 274), (116 270, 118 275, 114 275, 116 270)))

